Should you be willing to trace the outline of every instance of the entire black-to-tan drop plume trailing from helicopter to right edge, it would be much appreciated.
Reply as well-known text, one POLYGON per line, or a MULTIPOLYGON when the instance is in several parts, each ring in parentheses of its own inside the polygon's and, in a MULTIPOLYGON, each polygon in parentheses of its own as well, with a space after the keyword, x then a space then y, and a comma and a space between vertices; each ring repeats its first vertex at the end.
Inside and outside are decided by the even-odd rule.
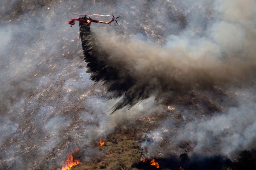
POLYGON ((184 51, 129 40, 113 32, 99 36, 83 30, 81 34, 91 80, 103 81, 111 92, 110 98, 122 97, 113 112, 125 106, 131 108, 150 96, 156 100, 163 96, 173 98, 192 89, 226 86, 235 79, 244 80, 243 84, 255 79, 255 64, 250 59, 242 63, 215 61, 210 57, 195 60, 184 51))

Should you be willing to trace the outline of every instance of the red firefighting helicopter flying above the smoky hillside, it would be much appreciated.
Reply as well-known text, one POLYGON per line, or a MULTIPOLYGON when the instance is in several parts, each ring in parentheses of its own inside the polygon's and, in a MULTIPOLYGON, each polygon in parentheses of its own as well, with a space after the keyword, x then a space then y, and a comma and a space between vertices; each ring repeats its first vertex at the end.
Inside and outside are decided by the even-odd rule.
MULTIPOLYGON (((110 20, 110 22, 104 22, 104 21, 94 20, 91 17, 87 18, 87 16, 95 16, 95 17, 104 16, 105 17, 105 16, 110 16, 110 15, 99 15, 98 13, 93 14, 93 15, 86 15, 86 14, 81 15, 81 14, 74 13, 74 15, 78 15, 79 17, 78 18, 71 18, 68 21, 68 23, 70 24, 70 27, 72 27, 73 25, 75 25, 75 21, 79 21, 79 36, 78 36, 78 39, 80 38, 80 28, 81 28, 81 26, 87 26, 87 28, 90 28, 92 22, 102 23, 102 24, 111 24, 111 22, 116 21, 116 19, 119 18, 119 17, 115 18, 114 15, 112 15, 113 18, 110 20)), ((116 23, 117 23, 117 21, 116 21, 116 23)))

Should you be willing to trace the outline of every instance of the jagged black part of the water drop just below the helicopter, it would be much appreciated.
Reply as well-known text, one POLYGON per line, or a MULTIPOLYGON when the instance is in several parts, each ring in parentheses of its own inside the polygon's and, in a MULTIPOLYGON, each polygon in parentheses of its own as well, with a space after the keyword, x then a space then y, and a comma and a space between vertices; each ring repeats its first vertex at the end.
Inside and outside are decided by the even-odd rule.
MULTIPOLYGON (((106 60, 109 54, 100 48, 100 42, 95 40, 95 35, 90 32, 89 29, 81 29, 81 41, 84 50, 84 60, 87 63, 87 71, 91 73, 91 80, 104 81, 104 85, 107 87, 107 91, 112 92, 110 98, 119 98, 124 94, 122 102, 118 102, 114 108, 114 111, 123 108, 126 105, 133 106, 139 100, 148 98, 145 95, 145 89, 139 92, 132 92, 132 87, 135 84, 135 80, 128 76, 122 76, 119 69, 107 64, 106 60), (144 94, 144 95, 143 95, 144 94), (142 96, 142 97, 139 97, 142 96)), ((113 111, 113 112, 114 112, 113 111)))

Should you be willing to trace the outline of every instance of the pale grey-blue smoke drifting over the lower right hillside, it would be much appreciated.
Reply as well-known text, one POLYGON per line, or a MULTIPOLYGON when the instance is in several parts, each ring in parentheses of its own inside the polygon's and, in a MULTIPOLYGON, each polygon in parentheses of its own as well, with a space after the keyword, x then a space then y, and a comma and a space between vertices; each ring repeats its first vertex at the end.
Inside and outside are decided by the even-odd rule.
POLYGON ((149 157, 155 154, 166 157, 171 151, 185 151, 205 155, 222 153, 235 159, 233 154, 236 151, 250 148, 256 139, 255 90, 236 89, 235 99, 239 106, 223 109, 212 116, 204 112, 198 117, 191 110, 185 109, 181 113, 180 107, 169 107, 175 117, 169 117, 158 128, 147 132, 151 140, 142 146, 148 149, 149 157), (180 115, 178 124, 176 114, 180 115), (164 146, 159 150, 159 145, 164 146))

